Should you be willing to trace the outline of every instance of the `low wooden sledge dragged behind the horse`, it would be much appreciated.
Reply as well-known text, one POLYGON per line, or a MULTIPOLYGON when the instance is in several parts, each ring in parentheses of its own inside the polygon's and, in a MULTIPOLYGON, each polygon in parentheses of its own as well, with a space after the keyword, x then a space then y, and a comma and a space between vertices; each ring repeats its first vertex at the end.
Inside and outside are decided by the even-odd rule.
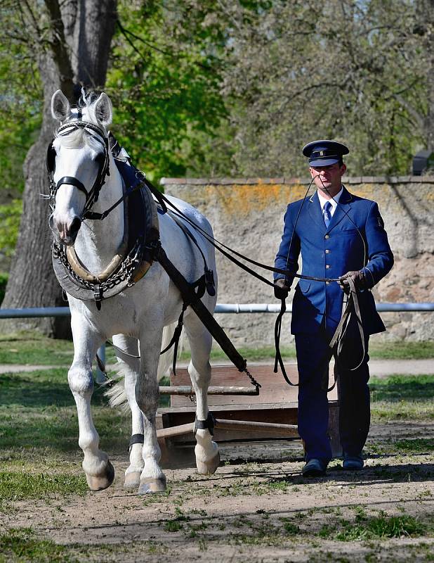
MULTIPOLYGON (((296 363, 287 363, 285 367, 291 381, 298 381, 296 363)), ((255 388, 250 386, 246 374, 240 373, 236 367, 212 367, 208 400, 209 410, 217 419, 214 441, 235 443, 300 439, 296 426, 298 387, 289 386, 282 374, 275 374, 272 369, 273 366, 268 364, 249 365, 249 371, 262 385, 257 396, 246 394, 254 393, 255 388), (241 387, 244 391, 240 391, 241 387)), ((191 381, 186 368, 178 368, 176 376, 171 373, 171 405, 159 408, 157 412, 157 437, 164 468, 195 467, 195 404, 188 396, 190 389, 191 381)), ((169 388, 166 392, 169 393, 169 388)), ((342 448, 338 432, 337 386, 329 392, 328 398, 331 450, 334 457, 339 457, 342 448)))

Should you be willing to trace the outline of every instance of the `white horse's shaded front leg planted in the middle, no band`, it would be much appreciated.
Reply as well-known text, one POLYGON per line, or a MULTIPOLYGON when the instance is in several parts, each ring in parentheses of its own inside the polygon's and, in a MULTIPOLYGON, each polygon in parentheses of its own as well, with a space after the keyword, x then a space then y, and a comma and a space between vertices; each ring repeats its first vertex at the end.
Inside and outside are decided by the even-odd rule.
POLYGON ((143 414, 144 467, 140 475, 139 495, 166 491, 166 476, 159 467, 162 454, 155 426, 159 399, 157 368, 162 332, 162 323, 152 322, 140 335, 140 372, 136 382, 136 401, 143 414))

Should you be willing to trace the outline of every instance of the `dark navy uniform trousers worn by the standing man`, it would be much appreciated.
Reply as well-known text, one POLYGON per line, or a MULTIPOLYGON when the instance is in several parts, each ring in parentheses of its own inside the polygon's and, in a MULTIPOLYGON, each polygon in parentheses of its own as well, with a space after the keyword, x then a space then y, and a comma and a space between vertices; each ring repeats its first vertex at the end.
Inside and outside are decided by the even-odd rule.
MULTIPOLYGON (((343 451, 360 454, 369 432, 369 368, 367 354, 369 336, 365 336, 362 365, 360 336, 348 334, 342 353, 338 358, 339 434, 343 451), (352 337, 353 336, 353 337, 352 337)), ((295 335, 298 363, 298 433, 305 443, 305 460, 316 458, 327 464, 331 460, 329 425, 329 403, 327 384, 331 350, 329 341, 333 332, 324 324, 316 334, 295 335), (324 377, 324 374, 325 375, 324 377)))

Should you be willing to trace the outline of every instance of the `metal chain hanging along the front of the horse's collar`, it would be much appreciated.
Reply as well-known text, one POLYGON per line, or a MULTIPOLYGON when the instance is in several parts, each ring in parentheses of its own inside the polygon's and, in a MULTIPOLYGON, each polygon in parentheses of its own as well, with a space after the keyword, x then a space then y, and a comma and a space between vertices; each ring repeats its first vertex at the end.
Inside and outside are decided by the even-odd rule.
MULTIPOLYGON (((60 260, 63 267, 65 267, 68 274, 70 274, 74 281, 77 281, 79 285, 85 287, 86 289, 93 291, 94 284, 91 284, 90 281, 86 281, 85 279, 81 278, 76 272, 74 272, 74 270, 72 270, 70 262, 67 259, 64 246, 55 241, 53 241, 53 256, 54 258, 60 260)), ((133 274, 136 271, 136 268, 140 264, 141 260, 141 243, 140 239, 138 239, 129 254, 124 258, 124 261, 122 262, 119 270, 115 274, 112 274, 112 276, 110 276, 107 281, 103 281, 103 283, 100 284, 100 290, 104 293, 104 291, 114 288, 115 286, 121 284, 123 281, 127 281, 127 287, 133 286, 133 274)))

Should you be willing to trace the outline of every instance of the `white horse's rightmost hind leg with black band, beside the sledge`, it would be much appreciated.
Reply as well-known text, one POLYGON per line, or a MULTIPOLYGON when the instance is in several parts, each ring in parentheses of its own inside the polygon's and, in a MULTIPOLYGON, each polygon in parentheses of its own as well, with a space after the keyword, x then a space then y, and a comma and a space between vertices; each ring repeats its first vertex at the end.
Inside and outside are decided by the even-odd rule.
POLYGON ((188 335, 192 359, 188 373, 196 393, 196 466, 197 472, 210 474, 216 472, 220 463, 218 447, 213 442, 213 418, 208 411, 208 386, 211 381, 212 337, 194 313, 185 317, 185 331, 188 335))

